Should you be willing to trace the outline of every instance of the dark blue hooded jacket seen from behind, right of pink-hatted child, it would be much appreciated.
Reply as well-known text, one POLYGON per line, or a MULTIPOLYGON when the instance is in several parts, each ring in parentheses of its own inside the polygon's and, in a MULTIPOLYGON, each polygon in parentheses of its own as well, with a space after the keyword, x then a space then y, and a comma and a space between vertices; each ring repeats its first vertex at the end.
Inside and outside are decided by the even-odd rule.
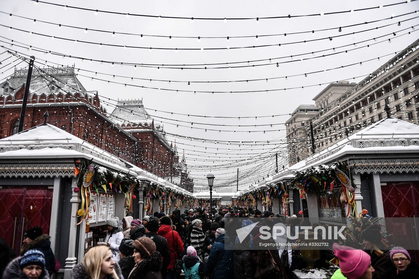
POLYGON ((231 279, 233 276, 233 243, 222 234, 215 239, 207 260, 205 272, 214 272, 212 278, 231 279))

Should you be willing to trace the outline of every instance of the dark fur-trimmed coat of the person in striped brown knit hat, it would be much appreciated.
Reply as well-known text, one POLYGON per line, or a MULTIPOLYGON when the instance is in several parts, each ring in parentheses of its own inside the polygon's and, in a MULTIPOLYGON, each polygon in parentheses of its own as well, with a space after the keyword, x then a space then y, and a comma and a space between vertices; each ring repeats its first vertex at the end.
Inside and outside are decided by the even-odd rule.
POLYGON ((140 261, 127 279, 162 279, 160 269, 162 269, 161 256, 158 251, 153 255, 140 261))

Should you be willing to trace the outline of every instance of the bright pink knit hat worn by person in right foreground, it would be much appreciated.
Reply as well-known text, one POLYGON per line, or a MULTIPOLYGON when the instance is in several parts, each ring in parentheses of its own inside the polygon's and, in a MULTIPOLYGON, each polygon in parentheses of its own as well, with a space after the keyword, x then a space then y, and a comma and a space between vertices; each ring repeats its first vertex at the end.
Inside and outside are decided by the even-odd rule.
POLYGON ((348 279, 360 278, 371 264, 370 255, 362 250, 334 243, 333 252, 339 259, 339 268, 348 279))

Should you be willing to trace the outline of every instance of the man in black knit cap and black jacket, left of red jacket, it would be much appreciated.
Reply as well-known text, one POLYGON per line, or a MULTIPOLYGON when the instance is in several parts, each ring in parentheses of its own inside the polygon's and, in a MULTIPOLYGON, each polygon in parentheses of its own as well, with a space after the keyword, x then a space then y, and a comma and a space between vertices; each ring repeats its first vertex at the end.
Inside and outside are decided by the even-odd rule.
POLYGON ((162 278, 165 278, 166 269, 170 264, 170 251, 169 245, 167 244, 166 238, 157 234, 157 231, 160 227, 157 217, 151 217, 150 221, 145 225, 145 235, 147 238, 150 238, 154 241, 156 245, 156 251, 160 252, 160 255, 163 257, 163 266, 161 268, 162 278))

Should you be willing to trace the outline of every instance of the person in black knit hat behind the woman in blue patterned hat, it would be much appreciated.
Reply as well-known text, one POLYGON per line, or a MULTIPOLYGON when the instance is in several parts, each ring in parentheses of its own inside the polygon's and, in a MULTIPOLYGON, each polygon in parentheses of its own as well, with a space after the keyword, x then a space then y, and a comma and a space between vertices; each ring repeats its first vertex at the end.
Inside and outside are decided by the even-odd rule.
POLYGON ((23 245, 20 255, 23 256, 28 250, 36 249, 41 251, 45 257, 45 269, 51 275, 55 272, 55 256, 51 250, 51 237, 42 234, 41 227, 33 227, 23 234, 23 245))

